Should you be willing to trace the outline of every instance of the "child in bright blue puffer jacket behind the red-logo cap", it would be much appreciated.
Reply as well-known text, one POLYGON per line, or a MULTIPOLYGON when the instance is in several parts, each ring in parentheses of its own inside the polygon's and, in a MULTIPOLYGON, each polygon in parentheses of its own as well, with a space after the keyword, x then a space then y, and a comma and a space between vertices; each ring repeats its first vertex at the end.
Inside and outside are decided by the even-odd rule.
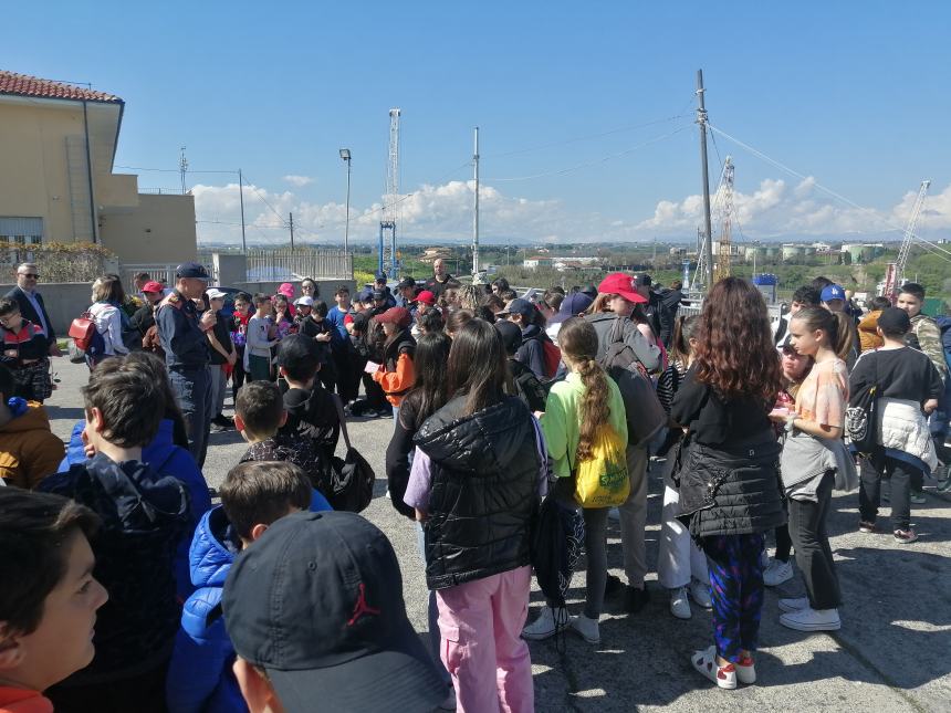
MULTIPOLYGON (((221 505, 205 513, 191 541, 191 581, 197 588, 185 602, 168 667, 170 713, 248 710, 231 671, 234 647, 221 614, 224 580, 236 555, 269 525, 297 511, 316 510, 311 506, 313 493, 304 471, 293 463, 249 461, 229 471, 221 505)), ((330 510, 326 501, 321 510, 330 510)))

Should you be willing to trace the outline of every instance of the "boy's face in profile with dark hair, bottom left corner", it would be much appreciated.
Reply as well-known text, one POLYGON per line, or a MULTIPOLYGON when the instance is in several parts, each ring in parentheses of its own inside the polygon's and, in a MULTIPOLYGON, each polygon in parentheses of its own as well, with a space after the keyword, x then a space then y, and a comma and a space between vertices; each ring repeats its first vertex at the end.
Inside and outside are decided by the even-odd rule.
POLYGON ((98 524, 65 497, 0 487, 0 710, 52 711, 41 692, 93 660, 98 524))

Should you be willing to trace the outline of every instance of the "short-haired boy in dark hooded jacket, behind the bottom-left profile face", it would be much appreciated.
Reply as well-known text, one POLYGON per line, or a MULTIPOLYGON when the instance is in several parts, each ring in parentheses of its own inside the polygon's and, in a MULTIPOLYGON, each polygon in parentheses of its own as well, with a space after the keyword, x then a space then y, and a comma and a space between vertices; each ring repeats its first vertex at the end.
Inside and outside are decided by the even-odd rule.
POLYGON ((95 455, 40 489, 72 497, 102 518, 96 578, 109 593, 93 662, 50 690, 63 711, 165 711, 165 673, 179 604, 174 559, 189 523, 186 486, 142 461, 158 431, 165 395, 125 359, 100 363, 83 387, 85 442, 95 455))

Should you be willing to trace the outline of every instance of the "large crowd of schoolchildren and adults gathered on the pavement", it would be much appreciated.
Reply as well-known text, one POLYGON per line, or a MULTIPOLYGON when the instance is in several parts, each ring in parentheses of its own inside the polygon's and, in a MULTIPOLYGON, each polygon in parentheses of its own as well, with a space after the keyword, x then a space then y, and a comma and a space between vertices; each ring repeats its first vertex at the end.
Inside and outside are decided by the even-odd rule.
POLYGON ((750 685, 764 587, 792 579, 793 558, 806 597, 780 599, 780 623, 843 626, 833 492, 858 490, 859 532, 908 545, 924 480, 951 483, 951 331, 913 283, 863 314, 818 277, 771 321, 736 277, 678 314, 681 285, 647 274, 519 296, 441 260, 425 282, 339 286, 330 308, 313 280, 300 296, 232 294, 226 312, 199 264, 168 287, 137 275, 132 297, 104 275, 84 419, 64 444, 36 376, 60 355, 39 273, 17 276, 0 300, 2 712, 532 711, 530 641, 597 644, 606 599, 630 615, 650 600, 650 463, 669 610, 711 611, 691 663, 750 685), (426 646, 387 535, 331 504, 346 420, 387 417, 387 497, 430 590, 426 646), (209 433, 228 429, 248 448, 210 490, 209 433), (612 517, 624 578, 607 567, 612 517), (545 602, 529 620, 533 574, 545 602))

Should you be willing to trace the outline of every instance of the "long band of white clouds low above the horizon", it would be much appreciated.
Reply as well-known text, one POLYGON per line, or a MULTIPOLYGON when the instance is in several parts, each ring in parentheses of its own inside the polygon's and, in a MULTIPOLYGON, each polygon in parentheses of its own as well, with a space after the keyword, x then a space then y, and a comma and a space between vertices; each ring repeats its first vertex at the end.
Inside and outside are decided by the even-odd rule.
MULTIPOLYGON (((406 239, 466 241, 472 233, 474 184, 453 180, 424 185, 404 195, 398 205, 399 234, 406 239)), ((239 242, 238 185, 192 189, 198 234, 203 241, 239 242)), ((812 177, 790 185, 765 179, 751 192, 734 192, 739 233, 746 239, 800 239, 847 237, 866 233, 869 239, 895 238, 905 227, 915 192, 892 208, 856 208, 822 191, 812 177)), ((351 240, 376 239, 383 218, 383 201, 351 206, 351 240)), ((292 190, 273 191, 244 187, 244 209, 250 242, 286 242, 289 213, 294 213, 299 240, 320 244, 343 240, 346 207, 343 202, 313 202, 292 190), (272 210, 273 209, 273 210, 272 210)), ((572 210, 561 200, 532 200, 509 196, 493 186, 480 187, 480 235, 485 242, 511 240, 524 244, 541 241, 584 243, 594 241, 691 240, 702 224, 703 201, 699 195, 657 202, 654 214, 604 216, 572 210)), ((714 232, 719 232, 714 210, 714 232)), ((932 193, 919 221, 922 234, 951 229, 951 186, 932 193)), ((736 229, 734 228, 734 234, 736 229)))

